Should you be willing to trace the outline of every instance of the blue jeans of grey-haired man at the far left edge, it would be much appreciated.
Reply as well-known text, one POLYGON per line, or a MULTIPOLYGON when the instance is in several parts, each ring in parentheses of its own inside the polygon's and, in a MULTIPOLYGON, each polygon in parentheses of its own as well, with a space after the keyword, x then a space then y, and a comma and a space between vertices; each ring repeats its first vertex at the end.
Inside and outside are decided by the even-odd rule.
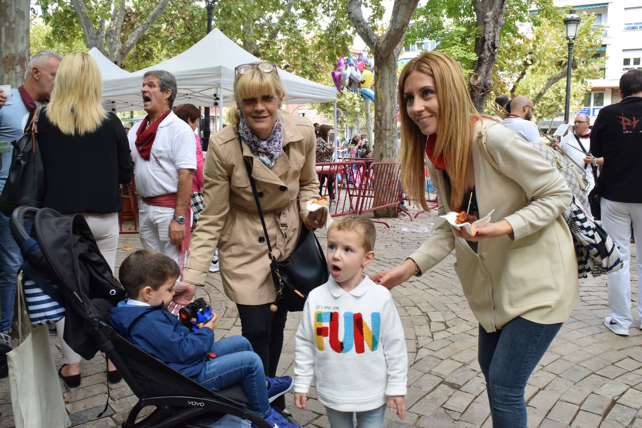
POLYGON ((0 332, 11 331, 15 287, 21 264, 22 255, 9 230, 9 218, 0 212, 0 332))

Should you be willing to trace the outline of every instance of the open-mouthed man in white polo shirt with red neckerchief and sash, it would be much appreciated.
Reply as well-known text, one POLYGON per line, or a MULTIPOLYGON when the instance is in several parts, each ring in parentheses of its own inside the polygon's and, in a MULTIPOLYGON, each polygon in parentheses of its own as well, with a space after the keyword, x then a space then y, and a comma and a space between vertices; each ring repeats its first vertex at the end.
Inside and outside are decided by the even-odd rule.
POLYGON ((142 202, 139 231, 143 248, 156 250, 184 265, 189 248, 192 176, 196 140, 192 128, 171 111, 177 93, 173 74, 144 74, 143 108, 147 116, 130 130, 136 192, 142 202))

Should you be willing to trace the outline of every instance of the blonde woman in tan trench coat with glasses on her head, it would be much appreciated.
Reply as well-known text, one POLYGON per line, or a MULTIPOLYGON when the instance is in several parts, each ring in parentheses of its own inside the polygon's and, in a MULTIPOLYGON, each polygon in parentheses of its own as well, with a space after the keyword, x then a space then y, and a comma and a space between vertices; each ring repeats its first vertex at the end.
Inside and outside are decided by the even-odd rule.
MULTIPOLYGON (((273 64, 244 64, 236 69, 236 108, 229 115, 232 126, 210 138, 204 165, 205 209, 191 238, 174 300, 186 304, 195 286, 205 284, 218 247, 223 288, 236 303, 242 334, 261 357, 265 375, 275 377, 288 312, 284 305, 277 312, 269 309, 276 289, 245 160, 252 165, 272 251, 282 260, 296 248, 301 228, 316 229, 325 223, 324 210, 306 210, 306 202, 318 198, 317 142, 308 119, 279 110, 285 94, 273 64)), ((275 404, 284 408, 282 397, 275 404)))

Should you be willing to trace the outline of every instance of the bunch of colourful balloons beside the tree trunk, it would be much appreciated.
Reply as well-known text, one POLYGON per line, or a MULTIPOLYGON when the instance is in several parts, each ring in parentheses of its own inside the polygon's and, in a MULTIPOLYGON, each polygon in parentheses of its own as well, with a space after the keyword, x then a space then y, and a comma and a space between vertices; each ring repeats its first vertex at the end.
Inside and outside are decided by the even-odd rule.
POLYGON ((345 88, 360 94, 364 101, 366 98, 374 101, 374 59, 369 58, 365 49, 361 49, 356 60, 352 55, 347 60, 345 55, 339 58, 332 80, 340 94, 345 88))

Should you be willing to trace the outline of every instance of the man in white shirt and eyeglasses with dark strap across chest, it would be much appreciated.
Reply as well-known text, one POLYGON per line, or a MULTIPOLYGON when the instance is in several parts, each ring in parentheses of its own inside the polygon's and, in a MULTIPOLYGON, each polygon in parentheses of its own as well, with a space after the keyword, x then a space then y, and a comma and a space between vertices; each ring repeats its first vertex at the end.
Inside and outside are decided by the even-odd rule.
MULTIPOLYGON (((589 117, 586 116, 586 114, 580 114, 575 117, 573 124, 575 125, 575 129, 573 132, 564 135, 559 145, 560 148, 564 150, 564 153, 575 162, 575 169, 577 169, 580 176, 584 175, 586 171, 586 179, 589 182, 586 194, 589 194, 593 190, 593 187, 595 187, 595 182, 598 178, 598 165, 602 165, 604 159, 594 158, 591 155, 591 128, 589 128, 591 121, 589 117), (580 169, 580 166, 583 168, 580 169)), ((582 206, 587 214, 593 218, 588 199, 582 206)))

